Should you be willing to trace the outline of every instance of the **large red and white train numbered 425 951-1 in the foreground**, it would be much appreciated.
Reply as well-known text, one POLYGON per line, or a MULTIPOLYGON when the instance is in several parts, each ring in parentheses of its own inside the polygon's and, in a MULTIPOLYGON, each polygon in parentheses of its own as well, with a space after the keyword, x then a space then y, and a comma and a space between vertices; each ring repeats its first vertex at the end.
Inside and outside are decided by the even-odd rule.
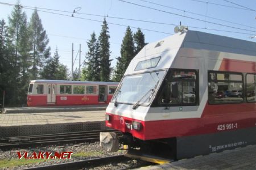
MULTIPOLYGON (((130 150, 173 159, 251 145, 255 91, 255 42, 183 30, 133 58, 106 109, 106 126, 122 131, 130 150)), ((102 147, 116 146, 106 138, 116 142, 102 133, 102 147)))

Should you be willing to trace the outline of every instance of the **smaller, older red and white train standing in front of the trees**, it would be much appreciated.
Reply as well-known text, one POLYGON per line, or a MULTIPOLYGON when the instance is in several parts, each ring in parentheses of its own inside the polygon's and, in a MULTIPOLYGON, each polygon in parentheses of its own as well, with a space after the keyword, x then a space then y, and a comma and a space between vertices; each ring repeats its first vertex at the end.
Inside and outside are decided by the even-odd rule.
POLYGON ((27 105, 108 104, 117 88, 115 82, 80 82, 67 80, 31 80, 27 105))

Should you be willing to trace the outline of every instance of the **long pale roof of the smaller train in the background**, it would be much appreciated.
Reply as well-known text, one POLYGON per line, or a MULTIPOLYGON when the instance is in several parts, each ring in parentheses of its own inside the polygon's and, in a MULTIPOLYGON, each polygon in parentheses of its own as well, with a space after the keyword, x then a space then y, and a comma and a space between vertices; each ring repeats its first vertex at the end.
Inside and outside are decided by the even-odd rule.
POLYGON ((30 83, 118 85, 118 82, 83 82, 83 81, 69 81, 69 80, 31 80, 30 83))

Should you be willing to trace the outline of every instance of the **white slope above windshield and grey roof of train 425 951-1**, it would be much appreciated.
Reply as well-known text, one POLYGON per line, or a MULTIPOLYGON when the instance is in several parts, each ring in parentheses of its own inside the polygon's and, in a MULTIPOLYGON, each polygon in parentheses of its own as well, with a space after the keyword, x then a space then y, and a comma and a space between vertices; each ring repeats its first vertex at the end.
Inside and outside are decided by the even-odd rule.
POLYGON ((144 48, 130 62, 125 75, 170 68, 181 48, 201 51, 207 50, 208 52, 242 54, 256 57, 255 42, 189 30, 176 33, 175 35, 166 37, 159 41, 151 42, 144 46, 144 48), (143 70, 135 69, 139 62, 156 57, 160 57, 160 60, 155 67, 143 70))

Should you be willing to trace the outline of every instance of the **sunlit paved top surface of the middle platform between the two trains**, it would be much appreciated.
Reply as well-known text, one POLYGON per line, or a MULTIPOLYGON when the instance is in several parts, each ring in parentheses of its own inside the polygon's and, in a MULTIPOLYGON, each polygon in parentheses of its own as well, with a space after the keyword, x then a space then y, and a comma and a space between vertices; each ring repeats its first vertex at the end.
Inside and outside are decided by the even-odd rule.
POLYGON ((1 126, 67 124, 105 121, 104 111, 0 114, 1 126))

